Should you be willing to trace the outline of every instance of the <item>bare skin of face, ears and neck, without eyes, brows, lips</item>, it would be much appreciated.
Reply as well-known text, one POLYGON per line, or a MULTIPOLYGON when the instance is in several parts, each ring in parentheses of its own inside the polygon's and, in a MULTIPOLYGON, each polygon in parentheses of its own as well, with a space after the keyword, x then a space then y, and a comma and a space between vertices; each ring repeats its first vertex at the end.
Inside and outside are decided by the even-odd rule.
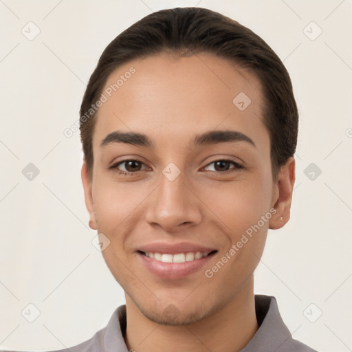
POLYGON ((126 345, 137 352, 240 351, 258 329, 253 272, 267 230, 289 220, 294 158, 274 181, 261 85, 247 70, 211 54, 158 54, 118 67, 105 87, 131 66, 135 74, 98 111, 93 179, 85 162, 81 174, 89 226, 109 239, 102 255, 125 292, 126 345), (240 92, 252 100, 243 111, 232 103, 240 92), (228 129, 247 135, 255 146, 237 141, 191 147, 196 134, 228 129), (104 137, 117 130, 144 133, 155 146, 101 148, 104 137), (129 159, 141 163, 109 169, 129 159), (215 163, 222 159, 243 168, 230 162, 225 170, 232 172, 224 174, 215 163), (170 162, 181 171, 173 181, 162 173, 170 162), (119 175, 119 170, 135 174, 119 175), (205 271, 272 208, 276 214, 221 270, 206 277, 205 271), (190 241, 218 252, 195 273, 162 279, 135 252, 154 241, 190 241), (177 314, 166 315, 167 307, 177 314))

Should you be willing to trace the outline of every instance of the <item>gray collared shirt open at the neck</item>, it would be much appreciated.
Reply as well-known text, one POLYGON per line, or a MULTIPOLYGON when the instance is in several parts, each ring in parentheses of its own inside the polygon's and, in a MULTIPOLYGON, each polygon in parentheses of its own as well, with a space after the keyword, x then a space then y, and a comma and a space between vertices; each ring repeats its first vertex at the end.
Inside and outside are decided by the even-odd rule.
MULTIPOLYGON (((317 352, 292 338, 274 296, 256 295, 255 306, 259 329, 240 352, 317 352)), ((124 343, 125 331, 126 305, 120 305, 113 312, 107 326, 92 338, 74 347, 52 352, 129 352, 124 343)))

